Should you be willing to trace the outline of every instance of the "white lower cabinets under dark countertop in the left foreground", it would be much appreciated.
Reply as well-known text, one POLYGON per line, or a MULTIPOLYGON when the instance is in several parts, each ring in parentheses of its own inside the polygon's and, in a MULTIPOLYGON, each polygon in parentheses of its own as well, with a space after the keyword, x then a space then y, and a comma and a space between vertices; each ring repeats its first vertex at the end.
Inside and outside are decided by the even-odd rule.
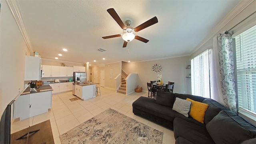
POLYGON ((14 118, 24 120, 48 112, 52 107, 52 91, 24 94, 14 102, 14 118))

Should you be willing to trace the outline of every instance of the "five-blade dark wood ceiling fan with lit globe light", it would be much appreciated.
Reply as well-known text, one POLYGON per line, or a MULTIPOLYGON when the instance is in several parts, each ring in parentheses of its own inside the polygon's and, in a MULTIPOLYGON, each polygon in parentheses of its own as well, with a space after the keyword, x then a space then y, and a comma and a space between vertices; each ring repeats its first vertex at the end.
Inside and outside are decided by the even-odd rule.
POLYGON ((120 19, 120 17, 118 16, 118 14, 116 13, 116 11, 114 10, 114 8, 110 8, 107 10, 108 13, 110 14, 110 16, 112 16, 112 18, 114 18, 114 20, 117 22, 117 24, 123 29, 123 34, 116 34, 116 35, 112 35, 112 36, 104 36, 102 38, 107 39, 107 38, 115 38, 115 37, 119 37, 122 36, 123 40, 124 40, 124 44, 123 44, 123 48, 126 47, 127 43, 132 41, 134 38, 136 40, 140 40, 142 42, 147 43, 149 40, 142 38, 140 36, 135 36, 134 33, 143 30, 144 28, 147 28, 149 26, 152 26, 153 24, 156 24, 158 22, 156 16, 154 18, 151 18, 150 20, 144 22, 143 24, 137 26, 136 28, 132 28, 130 26, 131 21, 130 20, 126 20, 126 26, 124 25, 124 23, 122 22, 122 20, 120 19))

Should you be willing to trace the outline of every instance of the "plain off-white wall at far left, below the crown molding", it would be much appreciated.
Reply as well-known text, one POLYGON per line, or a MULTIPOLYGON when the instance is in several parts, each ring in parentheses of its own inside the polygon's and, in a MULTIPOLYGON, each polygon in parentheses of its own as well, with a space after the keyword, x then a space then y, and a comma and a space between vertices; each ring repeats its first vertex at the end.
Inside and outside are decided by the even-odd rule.
POLYGON ((0 106, 7 104, 24 88, 26 43, 8 8, 1 0, 0 12, 0 106))

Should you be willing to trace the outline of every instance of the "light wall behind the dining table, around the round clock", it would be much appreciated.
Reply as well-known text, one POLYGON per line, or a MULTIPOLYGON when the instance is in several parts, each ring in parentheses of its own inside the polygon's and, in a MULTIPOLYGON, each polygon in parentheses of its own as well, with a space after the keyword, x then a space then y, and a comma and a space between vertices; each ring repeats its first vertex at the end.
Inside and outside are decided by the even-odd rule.
POLYGON ((187 91, 191 89, 191 87, 187 87, 188 79, 186 78, 186 66, 190 65, 188 56, 147 62, 122 62, 122 69, 128 74, 137 73, 138 85, 142 87, 142 90, 148 91, 147 82, 157 80, 158 75, 152 72, 153 64, 162 65, 163 70, 159 74, 163 75, 163 83, 168 83, 168 81, 174 82, 173 92, 183 94, 184 91, 185 93, 188 93, 187 91))

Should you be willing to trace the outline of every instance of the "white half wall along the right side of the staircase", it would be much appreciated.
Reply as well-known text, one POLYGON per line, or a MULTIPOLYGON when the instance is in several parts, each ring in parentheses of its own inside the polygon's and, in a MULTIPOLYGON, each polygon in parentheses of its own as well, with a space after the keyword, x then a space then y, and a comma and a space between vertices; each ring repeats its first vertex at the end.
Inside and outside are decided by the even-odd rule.
POLYGON ((138 80, 138 74, 128 74, 126 80, 126 95, 129 95, 133 92, 135 92, 135 88, 137 88, 137 80, 138 80))

